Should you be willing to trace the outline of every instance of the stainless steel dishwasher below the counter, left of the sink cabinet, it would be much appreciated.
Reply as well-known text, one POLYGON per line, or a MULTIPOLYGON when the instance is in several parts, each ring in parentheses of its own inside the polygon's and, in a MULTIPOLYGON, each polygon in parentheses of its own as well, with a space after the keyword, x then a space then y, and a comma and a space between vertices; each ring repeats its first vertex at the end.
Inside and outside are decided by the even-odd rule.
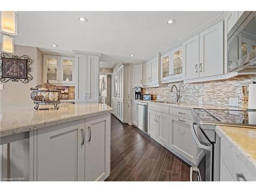
POLYGON ((138 103, 138 127, 141 131, 147 132, 147 103, 139 102, 138 103))

